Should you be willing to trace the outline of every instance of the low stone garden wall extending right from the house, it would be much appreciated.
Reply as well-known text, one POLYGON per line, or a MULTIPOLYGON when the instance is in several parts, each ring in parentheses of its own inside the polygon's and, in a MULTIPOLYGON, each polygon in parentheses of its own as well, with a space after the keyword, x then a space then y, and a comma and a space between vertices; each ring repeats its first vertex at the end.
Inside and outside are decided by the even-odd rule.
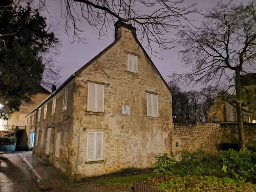
MULTIPOLYGON (((256 148, 256 124, 244 124, 246 146, 256 148)), ((239 144, 237 124, 196 123, 174 124, 172 152, 216 151, 222 143, 239 144)))

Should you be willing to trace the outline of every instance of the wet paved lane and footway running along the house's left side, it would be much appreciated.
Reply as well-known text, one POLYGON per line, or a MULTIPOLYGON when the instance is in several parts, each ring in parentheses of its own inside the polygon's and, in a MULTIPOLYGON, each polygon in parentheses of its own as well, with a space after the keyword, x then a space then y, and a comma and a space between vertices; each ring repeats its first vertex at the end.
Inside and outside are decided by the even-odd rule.
MULTIPOLYGON (((0 0, 1 1, 1 0, 0 0)), ((23 157, 42 178, 48 191, 51 192, 132 192, 131 188, 113 187, 96 182, 97 179, 88 178, 79 183, 70 181, 70 178, 59 169, 35 157, 31 152, 22 154, 0 154, 0 192, 37 192, 40 187, 34 173, 24 162, 23 157), (22 157, 20 157, 22 155, 22 157), (31 176, 32 173, 32 176, 31 176), (33 178, 32 178, 33 177, 33 178)))

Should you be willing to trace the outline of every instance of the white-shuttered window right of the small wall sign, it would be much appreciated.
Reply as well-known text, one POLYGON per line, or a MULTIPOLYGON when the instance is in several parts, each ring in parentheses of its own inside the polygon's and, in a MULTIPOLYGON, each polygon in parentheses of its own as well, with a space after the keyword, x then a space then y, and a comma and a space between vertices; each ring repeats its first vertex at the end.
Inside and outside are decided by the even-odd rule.
POLYGON ((146 112, 149 117, 158 117, 158 96, 156 94, 146 94, 146 112))

